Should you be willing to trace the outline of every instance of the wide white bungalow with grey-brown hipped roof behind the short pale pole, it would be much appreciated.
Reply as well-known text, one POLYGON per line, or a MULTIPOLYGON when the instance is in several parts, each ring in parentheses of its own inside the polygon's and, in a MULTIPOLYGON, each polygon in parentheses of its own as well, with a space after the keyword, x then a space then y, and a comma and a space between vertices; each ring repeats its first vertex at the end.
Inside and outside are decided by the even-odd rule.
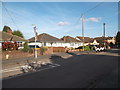
MULTIPOLYGON (((29 45, 35 45, 35 37, 28 39, 29 45)), ((47 46, 47 47, 62 47, 64 46, 64 41, 53 37, 49 34, 42 33, 37 36, 36 45, 38 46, 47 46)))

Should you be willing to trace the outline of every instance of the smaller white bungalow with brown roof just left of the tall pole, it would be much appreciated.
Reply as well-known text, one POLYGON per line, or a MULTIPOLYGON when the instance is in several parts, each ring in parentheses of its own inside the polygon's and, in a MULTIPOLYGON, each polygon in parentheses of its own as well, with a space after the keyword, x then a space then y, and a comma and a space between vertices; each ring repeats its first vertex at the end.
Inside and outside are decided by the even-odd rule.
POLYGON ((77 40, 70 36, 64 36, 61 38, 65 42, 64 47, 68 48, 78 48, 79 46, 82 46, 82 42, 80 40, 77 40))

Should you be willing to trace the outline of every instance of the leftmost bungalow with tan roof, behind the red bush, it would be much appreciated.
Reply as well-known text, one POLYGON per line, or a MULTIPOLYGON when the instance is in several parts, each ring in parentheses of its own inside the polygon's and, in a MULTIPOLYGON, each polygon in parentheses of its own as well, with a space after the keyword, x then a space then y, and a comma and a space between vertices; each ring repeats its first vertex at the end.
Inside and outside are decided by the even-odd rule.
POLYGON ((12 35, 11 33, 7 33, 4 31, 0 31, 0 46, 2 46, 2 42, 14 42, 16 41, 19 44, 19 47, 23 47, 23 44, 27 41, 24 38, 21 38, 19 36, 16 35, 12 35))

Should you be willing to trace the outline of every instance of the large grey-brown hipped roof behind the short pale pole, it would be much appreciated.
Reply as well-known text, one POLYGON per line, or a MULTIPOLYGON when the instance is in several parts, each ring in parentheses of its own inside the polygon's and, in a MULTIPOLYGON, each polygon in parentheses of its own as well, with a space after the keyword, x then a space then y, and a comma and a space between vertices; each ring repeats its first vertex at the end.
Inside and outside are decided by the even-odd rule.
MULTIPOLYGON (((34 42, 35 41, 35 37, 32 37, 30 39, 28 39, 30 42, 34 42)), ((38 35, 38 40, 39 42, 63 42, 62 40, 51 36, 49 34, 46 33, 42 33, 40 35, 38 35)))

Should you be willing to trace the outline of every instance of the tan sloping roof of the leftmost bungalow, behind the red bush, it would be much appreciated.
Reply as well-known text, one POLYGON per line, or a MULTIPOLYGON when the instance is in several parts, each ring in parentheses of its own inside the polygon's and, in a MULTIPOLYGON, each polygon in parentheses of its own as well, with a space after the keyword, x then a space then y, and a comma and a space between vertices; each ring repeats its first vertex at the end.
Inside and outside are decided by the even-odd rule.
POLYGON ((6 33, 4 31, 0 31, 0 35, 2 35, 0 41, 27 41, 24 38, 6 33))

